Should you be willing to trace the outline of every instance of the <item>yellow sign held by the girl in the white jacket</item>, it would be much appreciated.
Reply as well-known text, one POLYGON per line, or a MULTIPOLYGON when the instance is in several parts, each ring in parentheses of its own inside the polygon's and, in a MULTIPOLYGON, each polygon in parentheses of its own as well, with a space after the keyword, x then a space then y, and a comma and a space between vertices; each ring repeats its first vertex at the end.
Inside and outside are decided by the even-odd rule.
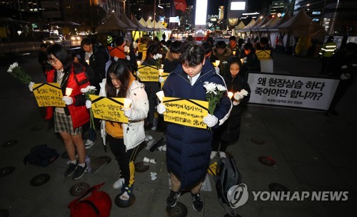
POLYGON ((97 95, 89 95, 89 97, 91 97, 91 109, 95 118, 112 122, 128 122, 128 117, 121 110, 124 107, 124 98, 99 97, 97 95))

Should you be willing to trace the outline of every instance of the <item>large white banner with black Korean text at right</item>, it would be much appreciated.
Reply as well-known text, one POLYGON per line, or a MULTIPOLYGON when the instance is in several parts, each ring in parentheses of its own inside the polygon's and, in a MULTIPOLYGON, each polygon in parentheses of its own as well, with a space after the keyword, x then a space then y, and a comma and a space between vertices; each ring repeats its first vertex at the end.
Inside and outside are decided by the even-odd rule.
POLYGON ((331 78, 249 73, 249 103, 328 110, 338 82, 331 78))

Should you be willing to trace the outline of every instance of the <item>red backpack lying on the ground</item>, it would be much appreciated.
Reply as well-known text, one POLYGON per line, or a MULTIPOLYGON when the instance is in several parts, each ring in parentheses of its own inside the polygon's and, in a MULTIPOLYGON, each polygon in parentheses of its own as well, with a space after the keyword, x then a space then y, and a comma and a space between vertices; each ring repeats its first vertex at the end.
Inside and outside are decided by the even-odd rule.
POLYGON ((111 197, 104 191, 98 191, 105 184, 91 187, 86 194, 69 203, 71 217, 109 217, 111 213, 111 197), (90 196, 83 199, 87 194, 90 196))

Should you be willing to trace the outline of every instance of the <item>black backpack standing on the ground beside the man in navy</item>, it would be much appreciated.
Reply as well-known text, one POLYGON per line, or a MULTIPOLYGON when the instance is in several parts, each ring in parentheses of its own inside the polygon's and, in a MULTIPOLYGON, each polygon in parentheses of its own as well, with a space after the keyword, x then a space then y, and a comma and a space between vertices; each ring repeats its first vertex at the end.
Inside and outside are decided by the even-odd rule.
MULTIPOLYGON (((223 203, 227 205, 230 204, 227 198, 227 193, 231 186, 241 184, 241 174, 236 166, 236 161, 233 158, 225 157, 219 159, 216 167, 216 176, 214 176, 213 179, 216 181, 218 201, 228 215, 231 216, 232 213, 227 211, 226 207, 223 206, 223 203)), ((236 216, 233 208, 232 210, 234 213, 233 216, 236 216)))

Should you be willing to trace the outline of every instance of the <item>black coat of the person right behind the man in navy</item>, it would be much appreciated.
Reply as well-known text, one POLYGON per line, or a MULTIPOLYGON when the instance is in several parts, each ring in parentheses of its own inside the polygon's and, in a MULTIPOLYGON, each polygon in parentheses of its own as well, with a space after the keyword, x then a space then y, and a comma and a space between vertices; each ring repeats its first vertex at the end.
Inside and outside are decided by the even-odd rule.
MULTIPOLYGON (((231 73, 227 72, 223 75, 223 79, 226 82, 228 92, 237 92, 241 90, 246 90, 248 95, 243 97, 238 105, 233 105, 231 110, 231 115, 228 120, 224 122, 221 127, 214 130, 214 137, 220 137, 222 142, 228 144, 237 142, 241 132, 241 115, 245 110, 246 103, 249 101, 251 96, 251 88, 249 88, 248 83, 240 76, 232 77, 231 73)), ((233 102, 233 97, 232 97, 233 102)))

